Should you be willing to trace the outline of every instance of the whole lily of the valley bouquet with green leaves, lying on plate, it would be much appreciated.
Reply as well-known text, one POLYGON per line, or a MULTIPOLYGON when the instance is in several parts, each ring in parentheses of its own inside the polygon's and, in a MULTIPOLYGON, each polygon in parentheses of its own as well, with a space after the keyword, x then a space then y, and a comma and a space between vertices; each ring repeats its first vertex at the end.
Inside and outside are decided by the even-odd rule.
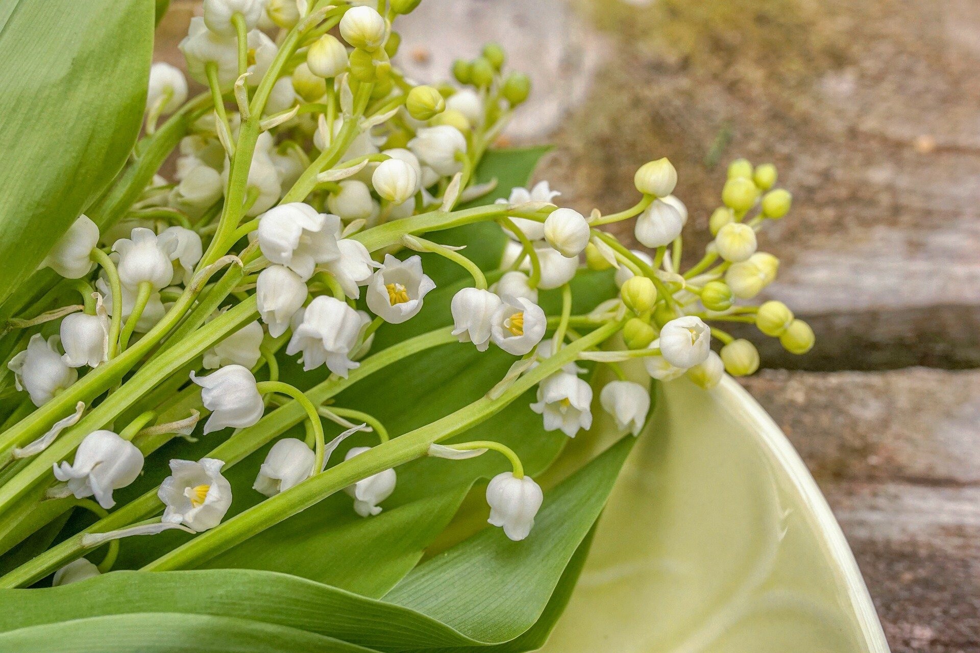
POLYGON ((392 64, 417 2, 205 0, 195 97, 148 0, 0 12, 3 650, 537 648, 659 384, 812 346, 742 302, 772 165, 696 256, 666 159, 564 208, 499 46, 392 64))

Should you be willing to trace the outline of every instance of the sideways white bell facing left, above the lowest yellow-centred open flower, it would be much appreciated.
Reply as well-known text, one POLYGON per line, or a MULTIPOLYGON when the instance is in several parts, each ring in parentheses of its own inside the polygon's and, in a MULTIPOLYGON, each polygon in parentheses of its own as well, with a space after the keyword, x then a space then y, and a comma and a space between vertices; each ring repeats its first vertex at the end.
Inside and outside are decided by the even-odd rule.
POLYGON ((255 376, 246 367, 228 365, 205 377, 191 372, 190 380, 201 386, 201 400, 211 411, 204 425, 205 435, 228 426, 236 429, 252 426, 266 411, 255 376))

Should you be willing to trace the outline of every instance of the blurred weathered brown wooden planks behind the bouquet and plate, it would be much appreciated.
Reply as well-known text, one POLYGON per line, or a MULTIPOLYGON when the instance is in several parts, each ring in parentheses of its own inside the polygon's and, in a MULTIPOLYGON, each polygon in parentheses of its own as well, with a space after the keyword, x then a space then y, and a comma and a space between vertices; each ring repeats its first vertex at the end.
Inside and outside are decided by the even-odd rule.
MULTIPOLYGON (((173 0, 158 59, 196 11, 173 0)), ((401 65, 440 79, 501 42, 534 80, 508 133, 588 212, 635 201, 668 157, 704 244, 725 165, 794 195, 760 248, 767 295, 817 346, 760 345, 744 380, 847 534, 894 651, 980 651, 980 3, 424 0, 401 65)), ((700 239, 700 240, 699 240, 700 239)))

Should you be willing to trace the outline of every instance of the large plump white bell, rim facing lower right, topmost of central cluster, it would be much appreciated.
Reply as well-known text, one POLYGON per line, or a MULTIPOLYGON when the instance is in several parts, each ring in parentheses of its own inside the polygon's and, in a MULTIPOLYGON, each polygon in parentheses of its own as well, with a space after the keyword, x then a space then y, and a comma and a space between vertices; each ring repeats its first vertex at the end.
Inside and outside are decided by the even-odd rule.
POLYGON ((336 215, 318 213, 301 202, 283 204, 259 218, 259 248, 270 261, 285 265, 306 281, 317 263, 340 257, 334 236, 339 229, 336 215))

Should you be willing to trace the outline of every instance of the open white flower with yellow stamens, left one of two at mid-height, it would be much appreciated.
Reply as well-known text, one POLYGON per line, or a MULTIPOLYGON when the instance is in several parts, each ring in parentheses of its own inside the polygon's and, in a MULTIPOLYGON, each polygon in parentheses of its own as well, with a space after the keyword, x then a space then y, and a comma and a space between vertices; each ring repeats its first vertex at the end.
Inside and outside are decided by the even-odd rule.
POLYGON ((422 299, 434 288, 422 273, 421 257, 402 261, 388 254, 368 284, 368 308, 385 322, 401 324, 421 310, 422 299))

